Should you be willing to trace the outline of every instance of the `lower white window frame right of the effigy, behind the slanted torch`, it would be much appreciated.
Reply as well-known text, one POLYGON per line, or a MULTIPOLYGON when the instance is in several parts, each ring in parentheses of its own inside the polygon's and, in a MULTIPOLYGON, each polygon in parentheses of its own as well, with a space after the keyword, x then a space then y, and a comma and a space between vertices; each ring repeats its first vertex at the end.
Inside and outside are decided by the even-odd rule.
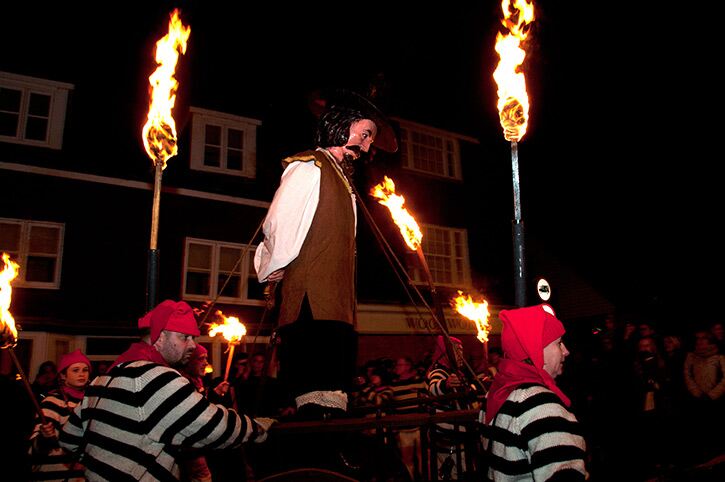
MULTIPOLYGON (((448 260, 448 265, 451 272, 451 281, 442 282, 435 279, 435 269, 429 266, 431 277, 433 278, 433 284, 435 286, 445 286, 449 288, 470 288, 471 287, 471 260, 468 251, 468 230, 465 228, 453 228, 450 226, 439 226, 435 224, 424 224, 420 223, 420 229, 423 232, 422 249, 423 255, 425 256, 426 263, 432 264, 431 260, 433 257, 443 258, 445 256, 440 254, 432 254, 429 251, 429 240, 430 230, 440 230, 447 236, 447 244, 450 246, 451 255, 445 257, 448 260), (456 253, 456 242, 455 236, 459 234, 461 236, 460 247, 461 253, 456 253), (461 269, 458 270, 456 267, 456 261, 461 261, 461 269)), ((417 260, 417 257, 416 257, 417 260)), ((411 269, 410 276, 415 284, 428 284, 428 280, 424 277, 423 269, 419 266, 419 263, 410 264, 411 269)))

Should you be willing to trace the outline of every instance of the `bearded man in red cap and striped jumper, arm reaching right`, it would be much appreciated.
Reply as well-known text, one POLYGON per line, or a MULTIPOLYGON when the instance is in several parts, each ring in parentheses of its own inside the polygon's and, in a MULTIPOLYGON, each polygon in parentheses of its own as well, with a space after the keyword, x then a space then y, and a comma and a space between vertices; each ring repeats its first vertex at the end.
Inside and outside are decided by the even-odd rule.
POLYGON ((267 422, 210 403, 172 366, 189 359, 199 336, 191 307, 166 300, 139 320, 142 340, 86 390, 60 432, 61 447, 82 452, 95 480, 179 480, 180 447, 237 447, 266 439, 267 422))

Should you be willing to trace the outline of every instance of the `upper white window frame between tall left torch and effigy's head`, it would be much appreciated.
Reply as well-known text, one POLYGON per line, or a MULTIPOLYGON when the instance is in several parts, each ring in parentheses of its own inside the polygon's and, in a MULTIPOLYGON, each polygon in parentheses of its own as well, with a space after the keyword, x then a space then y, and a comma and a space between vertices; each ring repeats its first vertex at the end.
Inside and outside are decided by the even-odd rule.
POLYGON ((257 127, 262 122, 248 117, 241 117, 223 112, 216 112, 198 107, 191 107, 191 156, 190 168, 192 170, 255 178, 257 175, 257 127), (206 146, 206 127, 218 126, 222 129, 220 166, 207 166, 204 164, 204 151, 206 146), (227 145, 229 129, 243 132, 242 169, 230 169, 227 165, 227 145))

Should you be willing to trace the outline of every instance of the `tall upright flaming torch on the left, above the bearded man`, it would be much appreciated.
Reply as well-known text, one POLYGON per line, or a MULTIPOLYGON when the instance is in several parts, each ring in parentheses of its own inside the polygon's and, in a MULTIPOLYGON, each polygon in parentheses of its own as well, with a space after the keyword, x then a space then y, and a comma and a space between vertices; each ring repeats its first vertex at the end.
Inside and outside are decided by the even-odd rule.
POLYGON ((155 167, 154 200, 151 212, 151 242, 149 246, 148 279, 146 287, 146 306, 150 310, 156 306, 156 285, 158 279, 158 250, 156 247, 159 225, 159 205, 161 197, 161 174, 166 161, 178 152, 176 145, 176 123, 171 110, 176 103, 176 90, 179 83, 174 78, 179 53, 186 53, 186 41, 191 28, 185 27, 179 19, 179 10, 175 9, 169 21, 169 33, 156 42, 156 63, 158 67, 149 76, 151 102, 143 138, 146 153, 155 167))

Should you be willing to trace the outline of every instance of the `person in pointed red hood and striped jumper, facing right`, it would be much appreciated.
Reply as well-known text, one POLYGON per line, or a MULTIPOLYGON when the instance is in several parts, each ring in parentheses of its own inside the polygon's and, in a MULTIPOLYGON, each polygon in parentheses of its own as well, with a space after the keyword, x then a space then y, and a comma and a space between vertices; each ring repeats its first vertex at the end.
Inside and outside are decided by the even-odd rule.
POLYGON ((556 385, 569 355, 547 304, 502 310, 504 358, 481 411, 488 478, 586 480, 583 430, 556 385))

